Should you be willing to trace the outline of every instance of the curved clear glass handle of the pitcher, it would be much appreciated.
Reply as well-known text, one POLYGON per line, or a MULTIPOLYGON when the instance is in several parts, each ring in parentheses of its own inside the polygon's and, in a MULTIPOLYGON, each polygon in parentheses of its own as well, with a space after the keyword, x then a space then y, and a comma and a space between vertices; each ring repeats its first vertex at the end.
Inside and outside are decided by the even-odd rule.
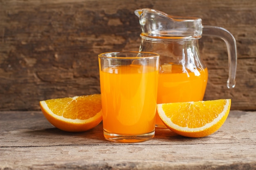
POLYGON ((234 88, 236 86, 236 64, 237 51, 236 40, 234 36, 224 28, 218 26, 203 26, 202 35, 210 35, 221 38, 227 45, 227 54, 229 58, 229 78, 227 80, 227 87, 234 88))

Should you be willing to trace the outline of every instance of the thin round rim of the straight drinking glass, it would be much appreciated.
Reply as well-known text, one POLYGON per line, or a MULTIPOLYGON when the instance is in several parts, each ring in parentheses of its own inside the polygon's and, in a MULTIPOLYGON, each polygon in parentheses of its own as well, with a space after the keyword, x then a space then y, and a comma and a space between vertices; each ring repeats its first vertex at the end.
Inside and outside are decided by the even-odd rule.
POLYGON ((157 58, 160 57, 160 55, 158 53, 153 53, 153 52, 147 52, 147 51, 111 51, 111 52, 105 52, 105 53, 100 53, 98 55, 99 58, 110 58, 110 59, 150 59, 150 58, 157 58), (104 54, 111 54, 111 53, 131 53, 131 54, 135 54, 135 53, 143 53, 143 54, 150 54, 152 56, 143 56, 143 57, 115 57, 115 56, 104 56, 104 54))

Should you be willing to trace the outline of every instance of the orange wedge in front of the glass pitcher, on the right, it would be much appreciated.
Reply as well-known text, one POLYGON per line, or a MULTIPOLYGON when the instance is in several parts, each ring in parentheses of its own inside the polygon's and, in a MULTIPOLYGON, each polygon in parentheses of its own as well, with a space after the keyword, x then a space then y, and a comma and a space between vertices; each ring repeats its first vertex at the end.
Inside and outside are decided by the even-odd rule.
POLYGON ((186 137, 205 137, 224 124, 231 99, 157 104, 163 123, 173 132, 186 137))

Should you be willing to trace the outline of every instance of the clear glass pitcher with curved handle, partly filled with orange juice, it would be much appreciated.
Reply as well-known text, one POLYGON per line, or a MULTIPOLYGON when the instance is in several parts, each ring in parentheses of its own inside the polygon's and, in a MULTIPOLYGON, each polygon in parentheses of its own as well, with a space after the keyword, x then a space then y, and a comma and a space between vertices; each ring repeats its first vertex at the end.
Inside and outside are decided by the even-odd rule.
MULTIPOLYGON (((202 26, 200 18, 176 17, 153 9, 138 9, 135 14, 142 29, 139 51, 160 54, 157 104, 203 99, 208 70, 198 49, 202 35, 225 41, 229 59, 227 87, 235 87, 236 40, 229 31, 202 26)), ((158 114, 155 123, 157 127, 165 127, 158 114)))

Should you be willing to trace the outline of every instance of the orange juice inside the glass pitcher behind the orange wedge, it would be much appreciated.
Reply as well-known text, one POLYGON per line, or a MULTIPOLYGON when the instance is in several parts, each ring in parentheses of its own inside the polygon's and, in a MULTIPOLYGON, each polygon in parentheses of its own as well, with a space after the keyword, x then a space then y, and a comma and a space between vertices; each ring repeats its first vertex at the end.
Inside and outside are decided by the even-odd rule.
MULTIPOLYGON (((172 65, 170 71, 159 73, 157 104, 203 99, 208 79, 207 68, 182 72, 180 65, 172 65)), ((155 123, 159 127, 164 126, 158 114, 155 123)))

